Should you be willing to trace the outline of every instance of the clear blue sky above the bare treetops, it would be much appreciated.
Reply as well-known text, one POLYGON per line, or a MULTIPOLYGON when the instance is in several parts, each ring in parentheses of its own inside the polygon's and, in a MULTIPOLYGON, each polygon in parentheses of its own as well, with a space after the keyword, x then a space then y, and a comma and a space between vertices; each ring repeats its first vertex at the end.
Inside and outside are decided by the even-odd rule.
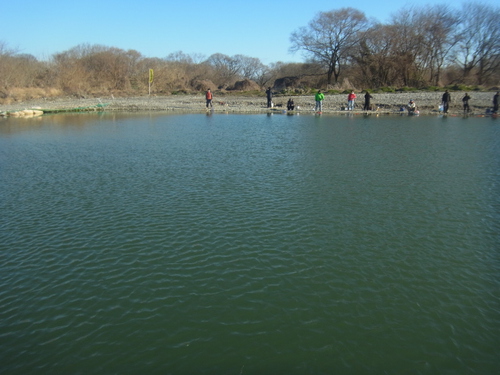
MULTIPOLYGON (((498 6, 498 0, 485 0, 498 6)), ((34 1, 2 0, 0 42, 19 53, 50 58, 79 44, 137 50, 145 57, 213 53, 258 57, 264 64, 302 61, 288 52, 290 34, 321 11, 350 2, 274 1, 34 1)), ((441 2, 445 3, 445 2, 441 2)), ((387 22, 398 10, 423 0, 359 0, 352 7, 387 22)), ((457 3, 456 7, 460 7, 457 3)))

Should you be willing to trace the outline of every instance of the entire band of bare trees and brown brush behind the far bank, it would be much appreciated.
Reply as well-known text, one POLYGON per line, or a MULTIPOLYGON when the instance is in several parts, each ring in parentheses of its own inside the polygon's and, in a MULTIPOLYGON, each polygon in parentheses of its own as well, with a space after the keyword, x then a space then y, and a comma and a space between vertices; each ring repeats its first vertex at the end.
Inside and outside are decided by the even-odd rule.
POLYGON ((0 103, 63 95, 171 95, 211 88, 258 94, 325 90, 500 86, 500 7, 464 3, 399 11, 389 23, 341 8, 320 12, 290 35, 303 63, 264 65, 258 58, 182 51, 146 58, 135 50, 78 45, 48 61, 0 41, 0 103), (150 86, 149 71, 154 79, 150 86))

